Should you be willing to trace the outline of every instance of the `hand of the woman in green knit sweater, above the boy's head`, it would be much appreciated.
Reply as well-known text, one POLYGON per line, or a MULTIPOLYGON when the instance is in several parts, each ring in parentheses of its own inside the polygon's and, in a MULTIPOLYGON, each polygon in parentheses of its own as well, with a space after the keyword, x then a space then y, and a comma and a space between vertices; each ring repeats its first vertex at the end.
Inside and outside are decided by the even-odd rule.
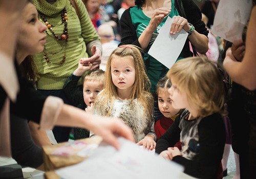
POLYGON ((101 51, 96 46, 93 46, 91 51, 93 53, 93 56, 83 59, 82 63, 83 65, 88 65, 88 62, 91 62, 93 64, 91 70, 94 70, 99 67, 99 64, 101 62, 101 51))

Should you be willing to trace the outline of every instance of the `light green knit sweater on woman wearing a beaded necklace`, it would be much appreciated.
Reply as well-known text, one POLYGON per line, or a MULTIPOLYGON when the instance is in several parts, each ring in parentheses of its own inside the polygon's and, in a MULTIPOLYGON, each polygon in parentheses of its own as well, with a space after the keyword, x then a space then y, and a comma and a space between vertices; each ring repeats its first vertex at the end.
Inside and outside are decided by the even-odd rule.
MULTIPOLYGON (((61 24, 63 8, 66 8, 68 15, 68 42, 55 39, 53 34, 47 30, 45 50, 50 61, 46 61, 44 52, 33 56, 40 75, 36 82, 38 89, 62 89, 67 78, 77 68, 79 59, 88 57, 88 43, 99 40, 86 7, 81 0, 76 0, 76 2, 80 11, 80 20, 76 10, 68 0, 57 0, 53 5, 47 3, 46 0, 33 1, 36 9, 46 15, 46 19, 53 26, 55 34, 59 36, 64 28, 64 25, 61 24), (60 64, 65 53, 66 60, 63 64, 60 64)), ((82 81, 80 80, 78 84, 82 84, 82 81)))

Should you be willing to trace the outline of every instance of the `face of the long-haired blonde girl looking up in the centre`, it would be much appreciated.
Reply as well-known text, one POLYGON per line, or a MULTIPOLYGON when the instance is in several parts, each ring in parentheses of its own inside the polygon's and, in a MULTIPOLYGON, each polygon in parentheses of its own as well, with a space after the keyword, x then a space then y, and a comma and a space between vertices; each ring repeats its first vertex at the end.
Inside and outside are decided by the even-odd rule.
POLYGON ((131 92, 135 82, 135 67, 133 58, 131 56, 113 56, 110 66, 112 81, 118 88, 118 91, 131 92))

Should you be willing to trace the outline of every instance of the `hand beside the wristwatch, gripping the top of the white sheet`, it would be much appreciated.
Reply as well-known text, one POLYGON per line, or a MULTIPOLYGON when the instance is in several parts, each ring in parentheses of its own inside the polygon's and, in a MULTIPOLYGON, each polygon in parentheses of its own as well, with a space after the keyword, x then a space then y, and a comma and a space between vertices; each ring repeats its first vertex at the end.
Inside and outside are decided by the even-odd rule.
POLYGON ((190 30, 190 26, 187 23, 187 19, 181 16, 173 16, 173 22, 170 26, 170 34, 176 34, 180 32, 181 29, 184 29, 184 31, 188 32, 190 30))

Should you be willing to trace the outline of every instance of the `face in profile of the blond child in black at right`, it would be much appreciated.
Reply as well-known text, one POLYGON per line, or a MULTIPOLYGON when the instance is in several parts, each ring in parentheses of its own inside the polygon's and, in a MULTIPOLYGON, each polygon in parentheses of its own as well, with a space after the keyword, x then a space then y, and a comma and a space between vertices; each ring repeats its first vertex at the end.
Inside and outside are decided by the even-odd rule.
POLYGON ((170 101, 175 109, 189 108, 187 95, 184 91, 180 91, 176 86, 175 81, 172 79, 172 87, 168 89, 170 101))

